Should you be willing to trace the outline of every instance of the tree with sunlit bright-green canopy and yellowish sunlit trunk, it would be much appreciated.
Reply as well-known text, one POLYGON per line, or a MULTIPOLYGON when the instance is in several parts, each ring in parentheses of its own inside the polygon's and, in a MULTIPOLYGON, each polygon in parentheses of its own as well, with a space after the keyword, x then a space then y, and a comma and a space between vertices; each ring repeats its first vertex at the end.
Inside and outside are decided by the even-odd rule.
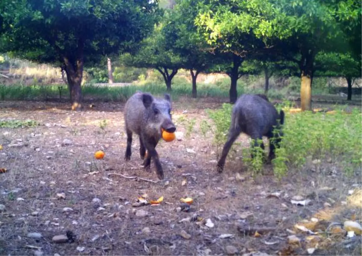
POLYGON ((313 63, 320 51, 344 51, 358 25, 359 1, 200 1, 195 24, 209 45, 239 55, 283 56, 300 68, 301 107, 311 109, 313 63))

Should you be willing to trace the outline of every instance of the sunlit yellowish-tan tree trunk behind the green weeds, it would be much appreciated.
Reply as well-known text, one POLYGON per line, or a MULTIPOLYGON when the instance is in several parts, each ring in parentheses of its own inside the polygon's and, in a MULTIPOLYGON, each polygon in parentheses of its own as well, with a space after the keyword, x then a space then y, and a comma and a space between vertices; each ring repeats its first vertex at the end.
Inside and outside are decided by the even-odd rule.
POLYGON ((300 65, 300 108, 302 111, 312 110, 313 52, 302 57, 300 65))

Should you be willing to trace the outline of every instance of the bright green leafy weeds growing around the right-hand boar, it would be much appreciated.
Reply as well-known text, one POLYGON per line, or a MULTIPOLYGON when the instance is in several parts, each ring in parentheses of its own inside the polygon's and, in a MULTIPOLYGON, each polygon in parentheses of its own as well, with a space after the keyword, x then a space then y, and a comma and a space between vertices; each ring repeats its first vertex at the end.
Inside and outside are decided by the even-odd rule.
MULTIPOLYGON (((286 117, 281 148, 276 150, 276 158, 273 160, 276 176, 282 177, 287 170, 301 168, 313 160, 321 162, 333 160, 339 163, 347 174, 361 169, 362 113, 357 108, 350 114, 346 114, 341 108, 334 114, 312 112, 290 114, 289 105, 288 102, 284 102, 277 106, 278 109, 284 107, 286 117)), ((230 104, 223 104, 220 109, 208 111, 214 121, 212 132, 217 151, 221 151, 226 142, 231 122, 231 109, 230 104)), ((243 160, 254 173, 257 173, 262 167, 260 164, 262 154, 257 154, 252 160, 250 150, 250 148, 242 149, 243 160)), ((231 160, 232 157, 228 156, 228 159, 231 160)))

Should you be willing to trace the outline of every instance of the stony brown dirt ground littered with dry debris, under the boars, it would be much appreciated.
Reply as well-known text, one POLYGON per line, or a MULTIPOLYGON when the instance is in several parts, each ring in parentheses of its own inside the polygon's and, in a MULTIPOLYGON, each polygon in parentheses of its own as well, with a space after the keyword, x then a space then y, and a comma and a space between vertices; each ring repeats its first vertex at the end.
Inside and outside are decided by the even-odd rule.
MULTIPOLYGON (((173 119, 195 118, 198 124, 207 118, 205 108, 220 103, 174 102, 173 119)), ((124 161, 122 110, 123 104, 111 103, 75 113, 64 103, 0 102, 0 119, 33 119, 41 124, 0 129, 0 168, 8 170, 0 173, 0 204, 5 206, 0 212, 0 255, 35 251, 38 255, 307 255, 313 238, 295 230, 296 223, 310 223, 313 217, 327 226, 348 219, 361 222, 361 208, 345 205, 348 191, 361 186, 361 180, 346 177, 333 162, 310 163, 278 181, 271 167, 265 167, 265 175, 253 177, 235 158, 228 159, 224 173, 218 174, 213 135, 209 132, 203 138, 197 125, 190 138, 158 144, 165 181, 111 175, 158 181, 153 164, 150 172, 143 170, 136 136, 131 161, 124 161), (107 120, 104 129, 103 120, 107 120), (104 150, 104 159, 94 159, 97 150, 104 150), (132 207, 145 193, 147 199, 163 196, 164 201, 132 207), (293 196, 311 203, 294 205, 293 196), (182 197, 193 198, 189 211, 177 209, 182 197), (64 212, 65 207, 72 210, 64 212), (206 224, 207 219, 213 225, 206 224), (242 234, 239 227, 257 227, 258 232, 242 234), (74 242, 52 242, 53 236, 68 230, 76 235, 74 242), (31 232, 42 237, 29 238, 31 232), (183 237, 184 232, 189 236, 183 237), (287 236, 293 232, 300 241, 292 246, 287 236)), ((177 130, 185 133, 185 124, 177 130)), ((241 135, 238 142, 248 146, 248 137, 241 135)), ((356 245, 346 249, 340 244, 345 234, 334 239, 340 233, 322 233, 320 249, 313 255, 361 255, 356 245), (337 247, 327 251, 323 244, 333 241, 337 247)))

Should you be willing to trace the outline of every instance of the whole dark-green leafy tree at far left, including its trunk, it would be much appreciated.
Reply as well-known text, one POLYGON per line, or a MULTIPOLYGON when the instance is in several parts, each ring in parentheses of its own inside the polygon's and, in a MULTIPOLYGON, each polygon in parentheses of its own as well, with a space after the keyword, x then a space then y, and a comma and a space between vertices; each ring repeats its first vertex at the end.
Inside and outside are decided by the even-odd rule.
POLYGON ((84 65, 129 51, 160 16, 148 0, 2 0, 0 52, 64 66, 72 108, 81 108, 84 65))

